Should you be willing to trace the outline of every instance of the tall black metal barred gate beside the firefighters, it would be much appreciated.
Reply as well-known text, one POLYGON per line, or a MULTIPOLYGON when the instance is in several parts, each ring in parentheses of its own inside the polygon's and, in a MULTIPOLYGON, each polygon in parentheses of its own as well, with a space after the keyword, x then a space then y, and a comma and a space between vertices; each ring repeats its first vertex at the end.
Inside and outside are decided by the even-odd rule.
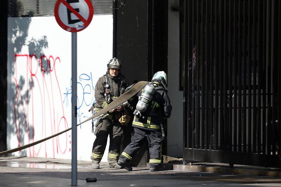
POLYGON ((184 160, 281 167, 281 1, 183 4, 184 160))

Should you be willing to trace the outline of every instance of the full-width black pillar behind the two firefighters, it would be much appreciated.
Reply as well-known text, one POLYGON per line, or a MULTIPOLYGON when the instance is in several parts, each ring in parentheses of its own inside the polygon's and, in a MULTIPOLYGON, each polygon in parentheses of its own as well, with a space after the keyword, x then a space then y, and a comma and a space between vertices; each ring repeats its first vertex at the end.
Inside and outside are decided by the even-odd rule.
MULTIPOLYGON (((113 56, 122 63, 130 84, 150 81, 157 71, 167 71, 168 1, 113 1, 113 56)), ((131 141, 132 127, 125 131, 123 149, 131 141)), ((164 147, 164 153, 166 146, 164 147)), ((146 146, 132 161, 146 166, 146 146)))

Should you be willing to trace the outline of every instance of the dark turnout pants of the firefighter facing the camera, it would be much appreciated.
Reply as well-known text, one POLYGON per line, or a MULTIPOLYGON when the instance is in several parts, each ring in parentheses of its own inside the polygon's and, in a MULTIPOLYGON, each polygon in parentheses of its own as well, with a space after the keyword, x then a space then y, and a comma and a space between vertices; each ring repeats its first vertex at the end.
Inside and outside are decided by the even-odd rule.
POLYGON ((120 154, 120 145, 123 135, 123 129, 118 120, 110 120, 105 117, 101 118, 96 124, 96 139, 92 149, 92 161, 100 162, 104 154, 107 137, 109 135, 109 153, 107 156, 108 163, 116 163, 120 154))

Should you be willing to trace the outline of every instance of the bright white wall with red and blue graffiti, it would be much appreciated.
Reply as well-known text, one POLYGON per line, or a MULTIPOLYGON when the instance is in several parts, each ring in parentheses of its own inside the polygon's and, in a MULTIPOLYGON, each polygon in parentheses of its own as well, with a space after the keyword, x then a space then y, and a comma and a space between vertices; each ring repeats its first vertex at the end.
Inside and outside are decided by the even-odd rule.
MULTIPOLYGON (((96 81, 111 57, 112 15, 95 15, 77 33, 77 123, 91 116, 96 81)), ((71 127, 71 33, 55 17, 9 17, 7 65, 8 149, 71 127)), ((78 160, 90 161, 94 139, 91 122, 77 128, 78 160)), ((70 159, 71 131, 14 155, 70 159)))

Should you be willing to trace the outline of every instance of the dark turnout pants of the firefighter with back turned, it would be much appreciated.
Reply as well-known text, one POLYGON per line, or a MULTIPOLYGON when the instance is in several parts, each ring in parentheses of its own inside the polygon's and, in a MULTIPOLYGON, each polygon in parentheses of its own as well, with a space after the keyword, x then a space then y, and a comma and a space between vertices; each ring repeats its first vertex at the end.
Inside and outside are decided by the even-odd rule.
POLYGON ((145 139, 147 139, 149 145, 149 163, 153 165, 160 164, 162 157, 162 141, 164 140, 161 132, 137 127, 134 127, 131 143, 122 152, 119 161, 128 163, 136 155, 137 151, 141 149, 142 144, 145 143, 145 139))

